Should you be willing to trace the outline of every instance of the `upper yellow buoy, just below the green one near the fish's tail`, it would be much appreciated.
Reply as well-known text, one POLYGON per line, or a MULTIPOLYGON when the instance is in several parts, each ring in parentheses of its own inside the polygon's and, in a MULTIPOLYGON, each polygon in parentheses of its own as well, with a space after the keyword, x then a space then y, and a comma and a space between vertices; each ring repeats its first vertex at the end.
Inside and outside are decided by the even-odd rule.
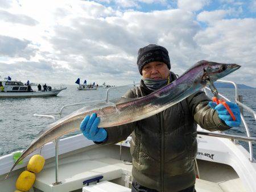
POLYGON ((44 167, 44 157, 40 155, 34 155, 30 158, 27 164, 27 170, 34 173, 39 173, 44 167))

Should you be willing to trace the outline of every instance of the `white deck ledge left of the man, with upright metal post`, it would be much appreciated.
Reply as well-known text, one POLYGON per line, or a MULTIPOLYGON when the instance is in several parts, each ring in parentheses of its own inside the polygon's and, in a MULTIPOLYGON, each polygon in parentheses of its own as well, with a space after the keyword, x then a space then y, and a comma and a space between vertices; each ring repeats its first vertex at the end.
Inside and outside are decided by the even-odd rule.
POLYGON ((60 185, 52 185, 55 181, 55 169, 44 169, 36 177, 35 187, 43 191, 72 191, 81 189, 82 182, 97 176, 104 176, 101 181, 114 180, 123 174, 131 175, 131 165, 125 165, 113 158, 81 160, 59 165, 60 185))

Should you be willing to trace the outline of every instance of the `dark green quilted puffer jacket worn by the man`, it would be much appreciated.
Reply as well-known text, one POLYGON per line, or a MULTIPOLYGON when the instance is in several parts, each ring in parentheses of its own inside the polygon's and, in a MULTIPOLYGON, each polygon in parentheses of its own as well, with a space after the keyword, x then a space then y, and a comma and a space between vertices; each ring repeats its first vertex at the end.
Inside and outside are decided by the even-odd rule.
MULTIPOLYGON (((124 97, 138 98, 151 92, 142 81, 124 97)), ((108 139, 104 144, 118 143, 131 134, 133 177, 142 186, 169 192, 195 185, 197 124, 209 131, 230 128, 208 106, 209 101, 203 91, 198 91, 150 118, 106 128, 108 139)))

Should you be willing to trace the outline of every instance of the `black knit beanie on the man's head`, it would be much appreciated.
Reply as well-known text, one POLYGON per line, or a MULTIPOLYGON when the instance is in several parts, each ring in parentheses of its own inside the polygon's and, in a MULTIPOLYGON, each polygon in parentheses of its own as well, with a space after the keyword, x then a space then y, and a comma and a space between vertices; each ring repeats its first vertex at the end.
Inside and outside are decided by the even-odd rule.
POLYGON ((139 73, 141 73, 141 75, 143 66, 152 61, 164 62, 168 66, 168 69, 171 69, 168 51, 166 48, 160 45, 149 44, 146 47, 139 49, 137 65, 139 68, 139 73))

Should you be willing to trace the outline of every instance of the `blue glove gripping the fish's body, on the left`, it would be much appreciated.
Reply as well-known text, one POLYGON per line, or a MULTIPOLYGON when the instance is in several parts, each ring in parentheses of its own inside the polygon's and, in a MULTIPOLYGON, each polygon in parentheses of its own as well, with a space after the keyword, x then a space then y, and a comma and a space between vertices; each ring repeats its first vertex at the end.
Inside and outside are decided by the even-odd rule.
POLYGON ((85 116, 80 124, 80 130, 84 136, 92 141, 101 142, 106 140, 108 133, 104 128, 98 128, 100 118, 93 113, 92 116, 85 116))

